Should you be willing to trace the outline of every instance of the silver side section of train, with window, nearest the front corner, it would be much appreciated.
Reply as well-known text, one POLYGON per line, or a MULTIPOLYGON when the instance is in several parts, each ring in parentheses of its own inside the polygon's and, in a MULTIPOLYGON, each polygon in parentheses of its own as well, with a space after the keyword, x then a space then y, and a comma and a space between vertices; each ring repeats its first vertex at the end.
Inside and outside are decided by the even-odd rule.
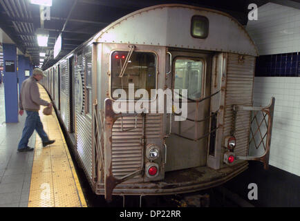
POLYGON ((77 154, 86 176, 93 180, 93 93, 92 46, 75 53, 75 128, 77 154))

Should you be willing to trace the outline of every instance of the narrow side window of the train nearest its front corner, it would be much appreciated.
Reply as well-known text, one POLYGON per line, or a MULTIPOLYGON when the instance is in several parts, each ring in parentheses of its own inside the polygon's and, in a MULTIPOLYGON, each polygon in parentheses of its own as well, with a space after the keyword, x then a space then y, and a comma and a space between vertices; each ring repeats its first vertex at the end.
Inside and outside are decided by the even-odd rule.
POLYGON ((93 75, 92 75, 92 54, 91 52, 86 55, 86 114, 92 115, 92 84, 93 75))

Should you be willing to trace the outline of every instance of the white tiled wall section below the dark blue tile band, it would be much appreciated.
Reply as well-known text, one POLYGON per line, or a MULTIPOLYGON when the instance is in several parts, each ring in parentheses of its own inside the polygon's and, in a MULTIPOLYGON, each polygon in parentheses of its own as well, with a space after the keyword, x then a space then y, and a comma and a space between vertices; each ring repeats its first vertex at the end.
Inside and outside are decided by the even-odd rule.
POLYGON ((300 175, 300 77, 255 77, 254 106, 275 97, 270 165, 300 175))

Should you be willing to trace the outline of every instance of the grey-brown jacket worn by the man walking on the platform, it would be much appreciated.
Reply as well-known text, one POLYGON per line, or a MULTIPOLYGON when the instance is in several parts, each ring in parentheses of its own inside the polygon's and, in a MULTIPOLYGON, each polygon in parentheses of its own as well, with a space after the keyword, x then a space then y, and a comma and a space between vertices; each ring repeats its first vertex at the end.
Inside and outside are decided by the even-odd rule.
POLYGON ((37 79, 29 77, 23 81, 19 96, 19 108, 26 111, 39 111, 39 106, 48 106, 49 103, 39 97, 37 79))

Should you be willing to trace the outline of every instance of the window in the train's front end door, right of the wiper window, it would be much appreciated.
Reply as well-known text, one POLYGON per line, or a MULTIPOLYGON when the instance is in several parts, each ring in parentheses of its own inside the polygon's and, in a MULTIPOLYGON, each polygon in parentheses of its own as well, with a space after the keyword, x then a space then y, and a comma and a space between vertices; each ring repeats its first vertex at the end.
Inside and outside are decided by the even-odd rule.
POLYGON ((178 58, 175 61, 175 89, 187 89, 189 99, 200 99, 202 95, 204 61, 178 58))

